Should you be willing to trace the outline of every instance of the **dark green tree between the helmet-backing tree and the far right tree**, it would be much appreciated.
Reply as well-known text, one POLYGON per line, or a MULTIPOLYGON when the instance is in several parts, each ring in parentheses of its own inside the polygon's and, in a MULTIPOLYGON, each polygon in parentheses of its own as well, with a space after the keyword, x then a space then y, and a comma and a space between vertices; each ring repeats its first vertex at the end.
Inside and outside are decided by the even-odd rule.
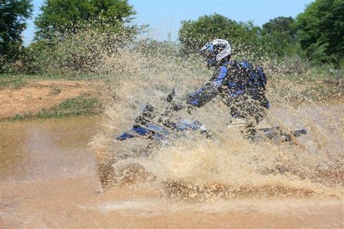
POLYGON ((283 57, 297 52, 297 29, 291 16, 271 19, 263 25, 261 34, 270 53, 283 57))

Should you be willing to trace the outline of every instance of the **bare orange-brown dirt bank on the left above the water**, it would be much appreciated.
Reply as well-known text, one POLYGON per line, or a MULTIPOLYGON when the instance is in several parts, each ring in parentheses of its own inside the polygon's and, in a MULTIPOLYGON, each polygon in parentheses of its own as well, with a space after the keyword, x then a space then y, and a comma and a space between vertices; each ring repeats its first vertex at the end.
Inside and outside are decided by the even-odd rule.
POLYGON ((78 96, 105 101, 105 84, 102 81, 25 80, 24 86, 7 86, 0 90, 0 119, 28 113, 35 115, 78 96))

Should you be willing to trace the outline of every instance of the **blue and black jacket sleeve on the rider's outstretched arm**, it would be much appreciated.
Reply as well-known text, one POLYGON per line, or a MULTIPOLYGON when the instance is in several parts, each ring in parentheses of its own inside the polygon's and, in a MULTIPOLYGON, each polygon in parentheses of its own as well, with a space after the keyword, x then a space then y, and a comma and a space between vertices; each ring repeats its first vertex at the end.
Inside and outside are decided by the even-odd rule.
POLYGON ((226 82, 227 73, 228 69, 226 67, 219 67, 209 82, 186 97, 186 104, 201 107, 211 101, 219 94, 222 85, 226 82))

